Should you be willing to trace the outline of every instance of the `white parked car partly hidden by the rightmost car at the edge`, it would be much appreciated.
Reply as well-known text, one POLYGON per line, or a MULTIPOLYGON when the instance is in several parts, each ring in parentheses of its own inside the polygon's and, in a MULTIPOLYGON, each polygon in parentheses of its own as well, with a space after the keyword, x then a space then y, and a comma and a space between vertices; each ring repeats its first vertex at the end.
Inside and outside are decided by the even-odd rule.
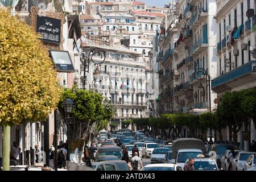
POLYGON ((233 171, 243 171, 243 166, 250 155, 255 155, 256 152, 238 152, 234 162, 232 163, 233 171))

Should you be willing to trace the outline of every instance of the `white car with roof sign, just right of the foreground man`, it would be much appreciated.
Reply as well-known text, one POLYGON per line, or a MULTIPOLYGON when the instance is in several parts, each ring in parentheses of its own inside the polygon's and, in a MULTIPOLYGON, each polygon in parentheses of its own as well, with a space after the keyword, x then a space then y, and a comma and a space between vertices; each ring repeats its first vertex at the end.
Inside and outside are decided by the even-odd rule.
MULTIPOLYGON (((194 158, 193 164, 195 171, 218 171, 217 162, 210 158, 194 158)), ((185 164, 188 163, 188 159, 185 164)))

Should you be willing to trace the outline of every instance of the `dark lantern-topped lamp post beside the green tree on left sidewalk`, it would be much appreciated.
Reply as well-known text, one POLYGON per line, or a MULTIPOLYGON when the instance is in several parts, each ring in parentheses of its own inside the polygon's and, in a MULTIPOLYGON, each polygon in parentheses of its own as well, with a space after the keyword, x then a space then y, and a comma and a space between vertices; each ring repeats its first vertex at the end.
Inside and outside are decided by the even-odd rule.
POLYGON ((65 111, 65 121, 67 124, 67 139, 68 139, 68 144, 67 144, 67 151, 68 151, 68 158, 67 160, 69 160, 69 154, 70 154, 70 150, 69 150, 69 137, 70 137, 70 125, 73 124, 73 117, 69 117, 69 114, 71 114, 73 106, 75 105, 75 103, 71 100, 71 98, 67 98, 64 102, 63 102, 63 108, 65 111))

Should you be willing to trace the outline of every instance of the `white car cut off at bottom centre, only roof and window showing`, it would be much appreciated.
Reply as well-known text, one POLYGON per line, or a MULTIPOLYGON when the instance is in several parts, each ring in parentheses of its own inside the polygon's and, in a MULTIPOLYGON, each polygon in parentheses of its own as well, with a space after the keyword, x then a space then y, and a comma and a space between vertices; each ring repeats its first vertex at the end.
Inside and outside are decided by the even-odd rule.
POLYGON ((148 164, 141 171, 183 171, 178 164, 148 164))

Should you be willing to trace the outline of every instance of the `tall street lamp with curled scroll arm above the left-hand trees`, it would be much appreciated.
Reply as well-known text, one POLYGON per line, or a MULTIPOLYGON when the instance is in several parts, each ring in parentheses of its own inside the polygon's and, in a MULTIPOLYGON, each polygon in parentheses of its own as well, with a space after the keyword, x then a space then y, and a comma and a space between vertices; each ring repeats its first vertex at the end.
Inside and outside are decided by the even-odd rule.
POLYGON ((106 52, 100 48, 92 49, 92 51, 89 52, 88 57, 84 57, 84 90, 85 90, 85 84, 86 84, 85 72, 89 73, 90 61, 92 61, 94 64, 97 65, 96 70, 93 72, 93 75, 100 75, 100 70, 98 68, 98 65, 104 63, 105 59, 106 59, 106 52), (101 57, 101 60, 98 62, 93 60, 93 56, 96 56, 97 54, 100 55, 100 57, 101 57), (87 63, 86 63, 86 59, 88 59, 87 63), (87 70, 86 70, 86 68, 87 68, 87 70))

